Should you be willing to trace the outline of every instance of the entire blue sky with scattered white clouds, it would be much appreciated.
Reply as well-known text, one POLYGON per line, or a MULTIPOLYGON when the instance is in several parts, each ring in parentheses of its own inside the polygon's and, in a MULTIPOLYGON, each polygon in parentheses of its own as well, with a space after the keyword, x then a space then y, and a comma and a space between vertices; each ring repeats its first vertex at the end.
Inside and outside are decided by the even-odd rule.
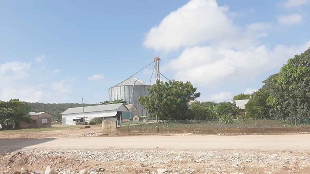
MULTIPOLYGON (((86 102, 161 58, 200 101, 250 93, 310 46, 310 0, 1 0, 0 100, 86 102)), ((150 66, 135 77, 150 82, 150 66)), ((154 77, 151 83, 154 82, 154 77)))

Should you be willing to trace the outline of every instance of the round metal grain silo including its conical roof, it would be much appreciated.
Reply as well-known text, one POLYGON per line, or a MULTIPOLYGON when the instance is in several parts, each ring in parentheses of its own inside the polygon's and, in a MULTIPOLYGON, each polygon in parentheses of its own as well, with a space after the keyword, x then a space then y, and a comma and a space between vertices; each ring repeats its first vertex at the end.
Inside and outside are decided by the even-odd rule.
POLYGON ((134 104, 138 108, 139 116, 148 116, 148 113, 138 101, 140 96, 148 95, 146 84, 136 78, 129 77, 123 82, 109 88, 109 101, 124 100, 128 104, 134 104))

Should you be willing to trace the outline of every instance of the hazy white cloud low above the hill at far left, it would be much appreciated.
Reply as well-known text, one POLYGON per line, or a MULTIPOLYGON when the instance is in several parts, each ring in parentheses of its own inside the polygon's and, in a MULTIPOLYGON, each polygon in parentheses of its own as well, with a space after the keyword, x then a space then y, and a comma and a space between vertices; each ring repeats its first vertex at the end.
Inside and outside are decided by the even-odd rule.
POLYGON ((0 100, 68 102, 67 94, 73 91, 74 79, 51 83, 50 79, 46 80, 47 76, 42 71, 32 69, 30 62, 12 61, 0 64, 0 100))

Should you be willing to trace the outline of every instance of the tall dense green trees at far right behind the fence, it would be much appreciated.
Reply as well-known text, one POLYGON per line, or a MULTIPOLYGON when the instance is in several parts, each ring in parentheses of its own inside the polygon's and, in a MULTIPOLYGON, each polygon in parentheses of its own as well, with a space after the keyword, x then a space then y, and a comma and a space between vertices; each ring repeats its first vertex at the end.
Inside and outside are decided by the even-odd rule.
POLYGON ((264 80, 263 87, 251 95, 246 111, 254 118, 309 118, 310 48, 264 80))

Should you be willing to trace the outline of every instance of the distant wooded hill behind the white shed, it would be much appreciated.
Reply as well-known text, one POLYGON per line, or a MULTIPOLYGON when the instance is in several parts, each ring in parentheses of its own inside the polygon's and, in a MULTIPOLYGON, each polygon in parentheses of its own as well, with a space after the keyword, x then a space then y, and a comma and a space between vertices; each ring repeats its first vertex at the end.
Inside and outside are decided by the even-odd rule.
MULTIPOLYGON (((28 102, 28 105, 31 108, 31 112, 48 112, 53 115, 54 120, 61 120, 62 115, 61 113, 68 108, 73 107, 82 107, 81 103, 30 103, 28 102)), ((84 106, 94 106, 99 104, 85 104, 84 106)))

